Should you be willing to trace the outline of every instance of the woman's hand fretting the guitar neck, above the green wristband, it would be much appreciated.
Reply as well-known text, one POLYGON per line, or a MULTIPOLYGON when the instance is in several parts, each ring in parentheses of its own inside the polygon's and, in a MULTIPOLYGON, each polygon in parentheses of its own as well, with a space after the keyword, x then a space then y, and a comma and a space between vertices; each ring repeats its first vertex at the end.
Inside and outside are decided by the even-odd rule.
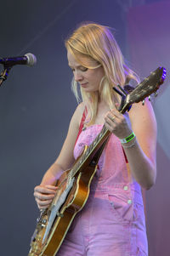
POLYGON ((116 109, 112 109, 105 115, 105 127, 119 139, 124 139, 133 132, 128 114, 122 115, 116 109))

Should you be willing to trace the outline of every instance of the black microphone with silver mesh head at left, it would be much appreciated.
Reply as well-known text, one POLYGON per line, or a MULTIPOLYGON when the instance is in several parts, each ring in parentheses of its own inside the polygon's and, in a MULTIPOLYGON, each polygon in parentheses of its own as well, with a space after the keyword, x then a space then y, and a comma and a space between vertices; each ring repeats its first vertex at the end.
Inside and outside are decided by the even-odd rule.
POLYGON ((5 67, 12 67, 13 65, 35 65, 37 58, 34 54, 25 54, 19 57, 0 58, 0 64, 5 67))

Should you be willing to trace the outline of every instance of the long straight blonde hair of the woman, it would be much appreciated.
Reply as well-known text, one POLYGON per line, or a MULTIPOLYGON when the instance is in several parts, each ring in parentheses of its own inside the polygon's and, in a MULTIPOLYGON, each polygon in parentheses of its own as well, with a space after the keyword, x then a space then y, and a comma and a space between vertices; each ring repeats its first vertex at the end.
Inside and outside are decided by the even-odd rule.
MULTIPOLYGON (((112 88, 117 87, 117 84, 124 86, 125 82, 131 79, 139 82, 139 77, 125 65, 122 52, 108 26, 94 23, 82 24, 65 40, 65 47, 81 65, 88 69, 102 65, 105 71, 105 77, 99 84, 99 93, 88 93, 83 88, 80 89, 82 101, 90 110, 88 113, 90 117, 88 125, 90 125, 97 115, 99 97, 101 100, 105 100, 110 108, 113 108, 115 106, 113 97, 116 101, 120 101, 120 98, 112 88), (84 58, 82 57, 88 57, 93 65, 83 62, 84 58)), ((72 90, 79 102, 80 97, 74 77, 72 90)))

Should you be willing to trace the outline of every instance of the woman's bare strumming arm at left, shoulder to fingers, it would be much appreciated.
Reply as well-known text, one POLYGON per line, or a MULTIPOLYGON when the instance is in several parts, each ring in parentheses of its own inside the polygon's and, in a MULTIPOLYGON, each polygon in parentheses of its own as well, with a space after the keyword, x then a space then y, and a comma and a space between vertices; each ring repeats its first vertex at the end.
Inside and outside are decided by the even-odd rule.
POLYGON ((75 159, 73 156, 74 145, 77 139, 79 130, 79 122, 82 117, 83 105, 78 105, 77 110, 71 118, 68 134, 66 136, 64 145, 59 153, 54 164, 48 168, 44 174, 42 182, 34 189, 34 196, 38 208, 47 208, 48 204, 52 202, 56 191, 56 181, 59 176, 68 168, 71 168, 75 159))

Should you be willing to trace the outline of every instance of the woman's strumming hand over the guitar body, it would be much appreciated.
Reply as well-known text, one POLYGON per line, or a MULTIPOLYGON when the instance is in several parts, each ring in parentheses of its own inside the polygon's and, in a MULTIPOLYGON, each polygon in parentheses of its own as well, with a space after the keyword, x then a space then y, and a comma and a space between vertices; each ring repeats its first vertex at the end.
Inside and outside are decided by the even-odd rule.
POLYGON ((37 185, 34 188, 34 196, 39 209, 48 208, 53 201, 57 186, 54 185, 37 185))

